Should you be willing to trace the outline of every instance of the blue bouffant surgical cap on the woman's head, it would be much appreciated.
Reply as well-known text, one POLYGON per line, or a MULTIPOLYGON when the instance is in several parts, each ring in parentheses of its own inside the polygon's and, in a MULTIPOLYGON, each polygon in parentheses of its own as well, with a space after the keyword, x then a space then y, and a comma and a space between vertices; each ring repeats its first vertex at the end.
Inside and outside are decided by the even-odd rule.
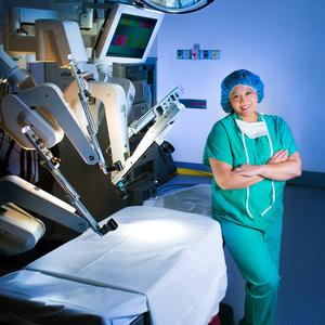
POLYGON ((221 106, 225 113, 232 113, 233 110, 229 96, 232 90, 238 84, 253 88, 257 92, 259 103, 264 96, 264 84, 258 75, 245 69, 233 72, 221 82, 221 106))

